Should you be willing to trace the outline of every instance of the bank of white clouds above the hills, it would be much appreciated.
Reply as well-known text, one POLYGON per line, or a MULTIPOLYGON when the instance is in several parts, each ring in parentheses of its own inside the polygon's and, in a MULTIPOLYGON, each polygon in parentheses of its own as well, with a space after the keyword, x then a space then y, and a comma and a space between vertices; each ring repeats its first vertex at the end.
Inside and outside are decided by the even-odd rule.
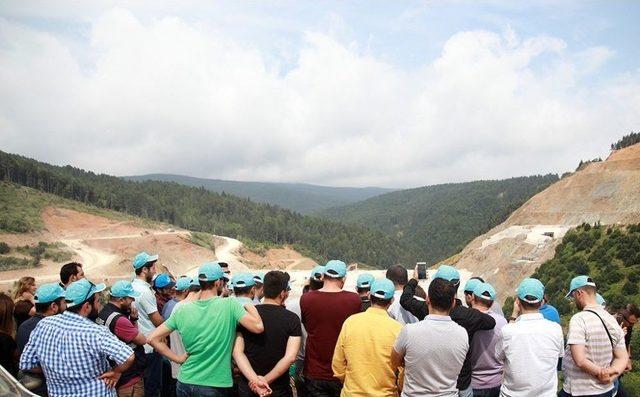
POLYGON ((640 125, 638 73, 585 82, 610 49, 510 29, 455 34, 411 71, 320 32, 282 67, 204 24, 124 9, 89 39, 72 55, 0 20, 3 150, 118 175, 417 186, 562 172, 640 125))

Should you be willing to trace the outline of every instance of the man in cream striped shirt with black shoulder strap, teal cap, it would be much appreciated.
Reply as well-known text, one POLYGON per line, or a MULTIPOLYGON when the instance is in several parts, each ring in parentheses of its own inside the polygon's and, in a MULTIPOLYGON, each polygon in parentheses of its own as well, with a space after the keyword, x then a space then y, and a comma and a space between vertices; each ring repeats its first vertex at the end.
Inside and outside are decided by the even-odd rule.
POLYGON ((624 331, 598 304, 596 293, 596 283, 587 275, 574 277, 569 284, 567 297, 580 312, 569 321, 561 396, 613 395, 612 382, 629 362, 624 331))

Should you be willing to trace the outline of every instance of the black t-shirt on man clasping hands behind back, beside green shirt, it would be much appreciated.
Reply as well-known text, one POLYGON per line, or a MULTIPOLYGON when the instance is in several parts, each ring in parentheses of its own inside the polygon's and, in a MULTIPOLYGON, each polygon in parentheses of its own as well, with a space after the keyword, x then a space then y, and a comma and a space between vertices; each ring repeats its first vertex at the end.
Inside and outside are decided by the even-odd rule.
MULTIPOLYGON (((244 354, 251 367, 258 375, 266 375, 284 357, 289 337, 302 336, 302 327, 298 315, 282 306, 262 304, 256 309, 262 318, 264 332, 254 334, 242 326, 239 330, 244 338, 244 354)), ((289 372, 285 371, 273 384, 288 385, 289 372)))

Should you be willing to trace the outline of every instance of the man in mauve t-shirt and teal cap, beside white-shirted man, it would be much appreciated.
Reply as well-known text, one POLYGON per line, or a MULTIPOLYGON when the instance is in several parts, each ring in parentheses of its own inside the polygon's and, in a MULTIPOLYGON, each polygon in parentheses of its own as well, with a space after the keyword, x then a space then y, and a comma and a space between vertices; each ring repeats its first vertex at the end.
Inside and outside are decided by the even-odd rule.
MULTIPOLYGON (((473 336, 469 346, 469 355, 472 362, 471 387, 474 396, 498 397, 502 384, 502 363, 496 359, 496 344, 500 339, 502 327, 507 320, 502 314, 491 310, 496 299, 496 291, 489 283, 480 281, 475 283, 471 295, 471 307, 481 313, 493 317, 496 326, 492 330, 478 331, 473 336)), ((469 287, 468 283, 465 289, 469 287)))

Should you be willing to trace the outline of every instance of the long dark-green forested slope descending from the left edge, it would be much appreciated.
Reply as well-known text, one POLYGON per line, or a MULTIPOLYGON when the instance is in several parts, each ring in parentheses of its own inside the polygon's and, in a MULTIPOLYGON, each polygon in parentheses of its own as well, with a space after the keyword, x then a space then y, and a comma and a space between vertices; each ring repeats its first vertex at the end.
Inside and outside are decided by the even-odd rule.
POLYGON ((315 259, 386 267, 411 252, 380 231, 300 215, 229 194, 168 182, 131 182, 0 151, 0 180, 97 207, 240 240, 289 244, 315 259))

